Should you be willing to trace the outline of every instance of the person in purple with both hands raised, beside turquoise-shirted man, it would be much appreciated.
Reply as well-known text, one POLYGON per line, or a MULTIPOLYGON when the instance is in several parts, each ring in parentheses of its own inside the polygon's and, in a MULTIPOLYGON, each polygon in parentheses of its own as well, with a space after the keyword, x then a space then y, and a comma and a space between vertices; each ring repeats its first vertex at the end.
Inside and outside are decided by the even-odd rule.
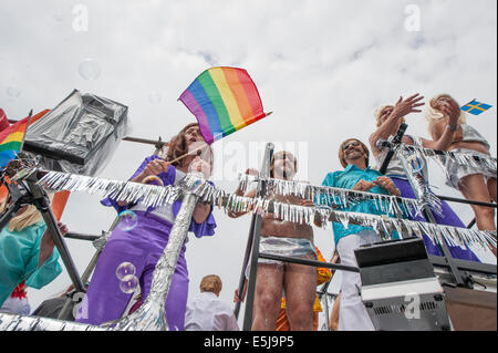
MULTIPOLYGON (((386 149, 380 149, 376 146, 377 141, 387 139, 390 136, 395 135, 400 129, 401 124, 404 123, 405 115, 409 113, 421 112, 419 107, 424 105, 424 103, 421 102, 423 98, 424 97, 419 96, 418 94, 414 94, 407 97, 406 100, 400 97, 400 100, 395 105, 384 105, 376 111, 375 117, 377 129, 370 136, 369 141, 370 147, 372 148, 372 153, 377 162, 377 168, 381 168, 382 163, 384 162, 384 158, 387 154, 386 149)), ((405 134, 403 136, 402 142, 407 145, 415 145, 425 148, 446 149, 447 146, 449 146, 449 144, 453 142, 454 128, 457 125, 460 110, 457 104, 453 103, 446 103, 442 107, 442 110, 444 114, 448 116, 448 126, 446 126, 445 131, 440 134, 439 139, 432 141, 405 134)), ((425 166, 427 165, 425 159, 422 160, 422 163, 425 166)), ((409 185, 409 181, 405 175, 405 172, 402 167, 402 163, 398 159, 398 157, 393 156, 390 165, 387 166, 385 175, 388 176, 394 181, 396 187, 400 189, 402 197, 415 198, 413 189, 409 185)), ((424 181, 427 180, 428 175, 426 167, 419 170, 419 177, 422 177, 424 181)), ((466 228, 464 222, 460 220, 460 218, 458 218, 458 216, 455 214, 455 211, 449 207, 447 203, 442 200, 440 206, 442 206, 442 215, 433 212, 437 224, 466 228)), ((422 215, 417 215, 415 217, 411 216, 409 218, 416 221, 428 221, 422 215)), ((430 240, 429 237, 427 237, 427 235, 423 235, 423 239, 428 255, 442 256, 439 248, 430 240)), ((477 256, 470 249, 468 248, 464 249, 459 246, 452 246, 448 242, 447 246, 449 252, 452 253, 452 257, 480 262, 479 258, 477 258, 477 256)))

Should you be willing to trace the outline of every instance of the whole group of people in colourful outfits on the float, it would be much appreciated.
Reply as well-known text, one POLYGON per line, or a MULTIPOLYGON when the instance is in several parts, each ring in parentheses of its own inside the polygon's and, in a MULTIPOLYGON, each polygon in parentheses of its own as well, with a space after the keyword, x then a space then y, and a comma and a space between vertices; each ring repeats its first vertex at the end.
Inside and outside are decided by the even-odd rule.
MULTIPOLYGON (((422 112, 423 105, 423 97, 415 94, 405 100, 400 97, 393 105, 380 107, 375 112, 376 129, 369 139, 370 149, 354 136, 341 143, 339 162, 343 169, 325 173, 322 185, 415 198, 405 169, 396 155, 388 164, 385 174, 378 172, 387 152, 381 149, 377 142, 395 135, 404 122, 404 116, 422 112), (371 158, 371 153, 374 158, 371 158)), ((440 94, 433 97, 426 107, 426 118, 430 138, 404 135, 402 141, 404 144, 490 156, 489 143, 466 123, 464 113, 450 95, 440 94)), ((204 138, 198 125, 185 126, 172 138, 165 156, 146 157, 129 180, 147 183, 146 180, 149 180, 151 177, 158 177, 164 186, 177 185, 190 172, 201 172, 208 179, 212 168, 212 152, 210 152, 209 158, 203 159, 198 155, 188 155, 177 160, 179 156, 188 153, 193 144, 199 142, 204 142, 204 138)), ((427 163, 424 166, 418 177, 427 181, 427 163)), ((465 198, 484 203, 497 201, 496 170, 490 170, 486 166, 480 169, 470 168, 468 165, 460 165, 455 160, 449 160, 446 168, 447 185, 458 189, 465 198)), ((291 180, 297 170, 298 160, 291 153, 282 150, 273 154, 270 177, 291 180)), ((258 170, 248 169, 247 174, 257 175, 258 170)), ((235 191, 240 196, 243 193, 240 187, 235 191)), ((245 195, 255 197, 256 190, 247 190, 245 195)), ((310 207, 317 201, 271 193, 264 197, 310 207)), ((83 302, 74 318, 76 322, 94 325, 112 322, 129 314, 147 298, 152 290, 153 271, 168 242, 181 200, 156 208, 116 201, 112 198, 102 200, 102 204, 114 207, 117 212, 133 210, 138 221, 137 226, 131 230, 115 227, 98 258, 83 302), (139 300, 131 310, 128 309, 129 303, 136 300, 136 297, 120 290, 120 279, 115 276, 116 268, 123 262, 134 264, 135 276, 139 281, 139 300)), ((1 205, 2 210, 7 206, 8 198, 1 205)), ((479 230, 496 230, 492 208, 475 205, 471 207, 479 230)), ((445 201, 442 201, 442 215, 435 215, 438 224, 466 227, 445 201)), ((347 208, 343 207, 341 210, 381 214, 369 201, 360 201, 347 208)), ((243 212, 229 211, 228 215, 236 218, 242 216, 243 212)), ((412 220, 427 221, 421 215, 407 217, 411 217, 412 220)), ((215 235, 216 221, 211 205, 199 201, 191 218, 188 230, 194 232, 197 238, 215 235)), ((314 225, 320 227, 321 222, 315 220, 314 225)), ((60 228, 62 233, 68 231, 62 224, 60 224, 60 228)), ((345 228, 341 222, 333 222, 332 228, 335 253, 331 261, 339 259, 342 264, 356 266, 354 249, 365 243, 381 241, 378 235, 370 227, 350 225, 345 228)), ((396 232, 393 232, 393 237, 396 238, 396 232)), ((423 237, 427 252, 440 256, 439 246, 427 235, 423 235, 423 237)), ((448 248, 455 258, 479 261, 468 248, 449 243, 448 248)), ((189 279, 185 250, 184 245, 166 298, 165 313, 169 330, 238 330, 230 310, 219 302, 221 281, 217 277, 203 279, 201 293, 187 305, 189 279), (206 284, 206 281, 211 282, 206 284)), ((260 250, 325 261, 314 246, 312 226, 274 218, 272 214, 264 215, 262 219, 260 250)), ((496 256, 496 248, 492 248, 492 252, 496 256)), ((9 225, 1 229, 0 233, 0 305, 3 305, 3 311, 9 311, 11 308, 11 311, 15 312, 12 308, 19 305, 15 307, 12 301, 25 298, 25 294, 22 295, 24 285, 42 288, 59 276, 61 267, 58 259, 59 252, 54 248, 40 212, 34 206, 22 207, 9 225)), ((252 330, 317 330, 318 312, 321 310, 320 301, 317 298, 317 285, 330 281, 331 277, 330 270, 325 269, 259 259, 252 330)), ((344 271, 340 300, 335 301, 336 305, 332 310, 332 329, 374 330, 357 288, 361 288, 360 274, 344 271)), ((240 297, 243 299, 243 295, 240 297)), ((237 292, 236 300, 240 300, 237 292)), ((61 301, 58 303, 62 307, 61 301)), ((27 313, 25 308, 23 310, 22 312, 19 310, 18 313, 27 313)), ((56 318, 56 310, 54 313, 53 310, 43 310, 43 308, 41 310, 39 308, 33 314, 42 315, 43 312, 48 316, 50 316, 50 312, 53 318, 56 318)))

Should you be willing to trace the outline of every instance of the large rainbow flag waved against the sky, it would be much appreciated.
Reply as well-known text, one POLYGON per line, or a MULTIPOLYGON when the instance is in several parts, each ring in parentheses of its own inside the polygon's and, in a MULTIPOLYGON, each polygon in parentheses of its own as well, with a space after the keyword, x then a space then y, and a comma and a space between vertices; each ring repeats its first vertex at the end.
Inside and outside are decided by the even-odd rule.
POLYGON ((270 114, 263 112, 258 89, 247 71, 237 68, 206 70, 178 100, 196 116, 208 144, 270 114))

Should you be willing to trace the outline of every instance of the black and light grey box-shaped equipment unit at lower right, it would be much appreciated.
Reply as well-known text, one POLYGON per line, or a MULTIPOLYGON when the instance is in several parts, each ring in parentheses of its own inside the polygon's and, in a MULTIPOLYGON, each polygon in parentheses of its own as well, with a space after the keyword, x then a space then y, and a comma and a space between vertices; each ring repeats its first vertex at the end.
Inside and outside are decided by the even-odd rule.
POLYGON ((362 301, 376 330, 450 330, 445 292, 422 239, 376 242, 354 253, 362 301))

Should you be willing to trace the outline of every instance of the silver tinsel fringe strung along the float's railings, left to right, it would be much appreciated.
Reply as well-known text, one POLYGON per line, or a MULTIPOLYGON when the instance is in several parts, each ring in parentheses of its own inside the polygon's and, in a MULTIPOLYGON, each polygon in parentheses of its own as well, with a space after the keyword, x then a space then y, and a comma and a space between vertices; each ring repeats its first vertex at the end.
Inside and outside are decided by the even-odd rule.
MULTIPOLYGON (((242 177, 242 183, 251 183, 255 180, 253 177, 242 177)), ((414 178, 415 179, 415 178, 414 178)), ((343 189, 323 189, 322 187, 315 187, 313 190, 313 186, 298 183, 298 181, 287 181, 280 179, 269 179, 269 183, 272 183, 273 188, 278 188, 280 193, 289 193, 288 195, 297 195, 297 196, 313 196, 313 195, 333 195, 332 197, 336 200, 338 204, 344 205, 347 203, 353 203, 354 200, 349 199, 349 191, 343 189)), ((447 239, 447 241, 452 245, 459 245, 465 247, 465 243, 480 243, 481 246, 488 246, 488 242, 491 245, 496 245, 496 238, 492 232, 489 231, 480 231, 473 230, 467 228, 456 228, 448 227, 442 225, 433 225, 428 222, 418 222, 418 221, 409 221, 401 218, 392 218, 386 216, 374 216, 369 214, 356 214, 356 212, 346 212, 333 210, 329 206, 315 205, 312 207, 309 206, 300 206, 292 205, 287 203, 273 201, 269 198, 249 198, 245 196, 238 196, 235 194, 228 194, 222 189, 217 188, 209 181, 206 181, 201 177, 195 174, 187 174, 185 178, 180 183, 180 187, 168 188, 168 187, 159 187, 152 185, 144 185, 138 183, 125 183, 125 181, 115 181, 115 180, 106 180, 101 178, 90 178, 77 175, 66 175, 63 173, 50 172, 43 179, 40 180, 42 185, 48 185, 52 189, 61 190, 61 189, 70 189, 70 190, 82 190, 94 193, 95 190, 102 190, 107 195, 113 195, 115 193, 117 196, 122 196, 120 200, 139 200, 142 203, 142 198, 147 206, 156 205, 158 201, 151 196, 151 189, 164 188, 172 193, 168 195, 169 200, 174 201, 181 194, 181 188, 185 188, 187 191, 199 197, 199 200, 204 203, 209 203, 212 206, 218 206, 218 208, 222 208, 226 212, 251 212, 259 214, 263 217, 268 217, 270 214, 281 220, 298 222, 298 224, 308 224, 312 225, 317 219, 321 221, 322 227, 326 227, 329 221, 338 221, 346 227, 349 224, 363 225, 373 227, 376 230, 383 230, 384 232, 391 233, 392 230, 398 230, 398 233, 415 233, 422 237, 422 233, 426 233, 434 241, 440 242, 440 239, 447 239), (81 178, 81 179, 80 179, 81 178), (96 179, 96 180, 91 180, 96 179), (79 183, 81 181, 81 183, 79 183), (121 183, 121 184, 120 184, 121 183), (133 195, 129 195, 127 187, 131 187, 133 184, 133 195), (96 186, 97 185, 97 186, 96 186), (93 187, 92 187, 93 186, 93 187), (124 195, 124 196, 123 196, 124 195), (148 196, 148 197, 147 197, 148 196)), ((246 185, 247 186, 247 185, 246 185)), ((426 193, 423 186, 418 185, 421 188, 417 190, 423 195, 426 193)), ((156 191, 154 195, 164 195, 165 193, 156 191)), ((414 199, 403 198, 402 205, 398 204, 396 197, 377 195, 371 193, 356 193, 354 194, 363 194, 362 197, 374 200, 380 209, 385 214, 395 214, 396 210, 403 210, 403 208, 413 207, 414 199)), ((433 195, 433 194, 432 194, 433 195)), ((113 196, 114 198, 115 196, 113 196)), ((163 197, 164 199, 164 197, 163 197)), ((398 198, 400 199, 400 198, 398 198)), ((437 199, 437 198, 436 198, 437 199)), ((425 199, 425 203, 430 207, 435 208, 436 199, 425 199)), ((438 200, 438 199, 437 199, 438 200)))

